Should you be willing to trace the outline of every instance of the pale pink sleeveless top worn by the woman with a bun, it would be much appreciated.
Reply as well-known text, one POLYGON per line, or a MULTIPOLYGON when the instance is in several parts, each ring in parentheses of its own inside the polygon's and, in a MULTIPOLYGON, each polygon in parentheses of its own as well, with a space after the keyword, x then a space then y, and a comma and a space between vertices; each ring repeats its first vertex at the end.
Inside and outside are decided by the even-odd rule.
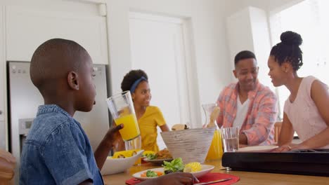
MULTIPOLYGON (((318 112, 316 104, 311 98, 311 85, 315 80, 317 78, 314 76, 303 78, 299 85, 295 101, 291 103, 288 97, 285 100, 285 107, 283 109, 302 142, 314 137, 314 135, 327 128, 327 124, 325 124, 325 121, 318 112)), ((329 145, 323 146, 322 149, 329 149, 329 145)))

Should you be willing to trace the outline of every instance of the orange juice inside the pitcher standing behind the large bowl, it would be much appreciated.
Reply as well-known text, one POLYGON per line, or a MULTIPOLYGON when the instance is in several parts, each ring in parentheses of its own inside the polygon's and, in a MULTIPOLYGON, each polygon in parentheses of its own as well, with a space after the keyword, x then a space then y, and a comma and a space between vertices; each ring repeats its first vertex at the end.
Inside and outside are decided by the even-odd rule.
POLYGON ((210 145, 206 160, 219 159, 223 156, 223 146, 221 145, 221 132, 215 130, 212 144, 210 145))

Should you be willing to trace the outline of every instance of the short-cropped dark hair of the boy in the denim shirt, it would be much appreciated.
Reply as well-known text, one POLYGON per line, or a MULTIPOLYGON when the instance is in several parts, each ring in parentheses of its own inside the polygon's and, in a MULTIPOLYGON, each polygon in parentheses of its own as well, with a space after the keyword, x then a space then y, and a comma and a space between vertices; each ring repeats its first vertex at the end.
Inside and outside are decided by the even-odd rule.
POLYGON ((34 51, 30 64, 32 83, 43 94, 44 87, 58 78, 63 78, 68 71, 77 71, 82 57, 89 55, 76 43, 66 39, 50 39, 34 51))

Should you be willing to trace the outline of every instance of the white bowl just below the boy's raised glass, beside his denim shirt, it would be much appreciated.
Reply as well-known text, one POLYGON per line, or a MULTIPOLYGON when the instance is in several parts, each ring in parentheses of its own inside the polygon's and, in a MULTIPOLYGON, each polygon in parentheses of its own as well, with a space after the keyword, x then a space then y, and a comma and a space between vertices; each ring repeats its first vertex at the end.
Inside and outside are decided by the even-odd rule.
POLYGON ((101 174, 115 174, 124 172, 129 167, 134 165, 136 160, 141 157, 143 150, 138 151, 135 156, 131 156, 129 158, 107 158, 101 170, 101 174))

